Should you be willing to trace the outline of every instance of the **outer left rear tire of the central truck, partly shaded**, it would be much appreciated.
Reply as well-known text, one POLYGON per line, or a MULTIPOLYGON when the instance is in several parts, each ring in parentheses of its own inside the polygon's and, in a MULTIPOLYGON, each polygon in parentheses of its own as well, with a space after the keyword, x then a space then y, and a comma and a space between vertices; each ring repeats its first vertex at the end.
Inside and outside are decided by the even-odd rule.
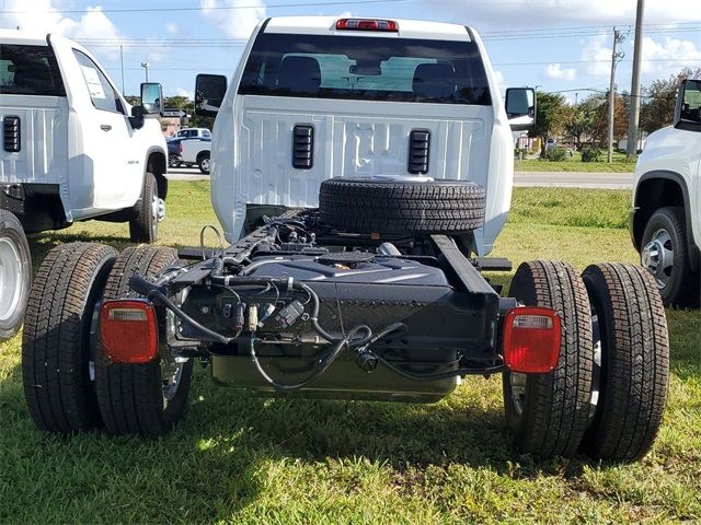
POLYGON ((95 243, 51 249, 26 307, 22 381, 39 429, 70 434, 102 424, 94 388, 97 307, 116 250, 95 243))

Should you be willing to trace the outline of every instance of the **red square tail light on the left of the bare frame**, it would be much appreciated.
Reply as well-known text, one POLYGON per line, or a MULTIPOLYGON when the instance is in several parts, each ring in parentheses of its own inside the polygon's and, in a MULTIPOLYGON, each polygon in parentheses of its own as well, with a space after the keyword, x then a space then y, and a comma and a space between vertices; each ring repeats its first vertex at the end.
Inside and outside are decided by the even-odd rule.
POLYGON ((115 363, 148 363, 158 355, 158 322, 145 299, 105 301, 100 312, 100 337, 115 363))

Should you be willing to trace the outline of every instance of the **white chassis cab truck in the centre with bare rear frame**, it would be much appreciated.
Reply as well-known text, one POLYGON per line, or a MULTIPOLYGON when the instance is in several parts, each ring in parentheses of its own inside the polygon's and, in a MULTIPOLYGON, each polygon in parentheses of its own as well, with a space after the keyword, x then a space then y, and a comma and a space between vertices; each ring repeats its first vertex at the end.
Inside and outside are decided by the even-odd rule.
MULTIPOLYGON (((45 341, 61 322, 27 315, 32 417, 61 433, 161 435, 187 405, 195 359, 221 386, 324 399, 434 402, 461 377, 501 374, 520 450, 641 457, 667 390, 653 277, 535 260, 504 296, 483 277, 510 269, 484 255, 509 209, 512 129, 533 122, 535 104, 521 88, 504 107, 470 27, 266 20, 228 88, 217 75, 196 85, 199 114, 218 110, 211 199, 231 245, 189 265, 172 248, 51 252, 67 268, 91 261, 81 266, 81 282, 94 282, 81 288, 90 314, 57 304, 51 318, 66 313, 95 337, 77 330, 51 347, 72 366, 47 371, 45 341), (83 389, 53 387, 91 368, 83 389), (85 409, 54 418, 61 397, 85 409)), ((55 267, 42 265, 37 302, 49 283, 70 288, 55 267)))

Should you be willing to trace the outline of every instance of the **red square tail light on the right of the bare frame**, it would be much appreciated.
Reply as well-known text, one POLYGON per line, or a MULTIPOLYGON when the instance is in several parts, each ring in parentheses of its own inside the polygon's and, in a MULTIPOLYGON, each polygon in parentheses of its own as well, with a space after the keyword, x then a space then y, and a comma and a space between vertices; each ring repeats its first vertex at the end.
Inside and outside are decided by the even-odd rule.
POLYGON ((558 366, 561 322, 556 312, 519 306, 504 322, 504 363, 512 372, 544 374, 558 366))

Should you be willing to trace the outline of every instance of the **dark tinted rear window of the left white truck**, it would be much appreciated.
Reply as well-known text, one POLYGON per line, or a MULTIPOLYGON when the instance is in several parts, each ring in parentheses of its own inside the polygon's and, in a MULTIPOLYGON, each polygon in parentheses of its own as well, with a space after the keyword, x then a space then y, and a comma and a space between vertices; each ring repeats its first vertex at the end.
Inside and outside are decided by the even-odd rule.
POLYGON ((65 96, 61 73, 48 46, 0 44, 0 93, 65 96))

